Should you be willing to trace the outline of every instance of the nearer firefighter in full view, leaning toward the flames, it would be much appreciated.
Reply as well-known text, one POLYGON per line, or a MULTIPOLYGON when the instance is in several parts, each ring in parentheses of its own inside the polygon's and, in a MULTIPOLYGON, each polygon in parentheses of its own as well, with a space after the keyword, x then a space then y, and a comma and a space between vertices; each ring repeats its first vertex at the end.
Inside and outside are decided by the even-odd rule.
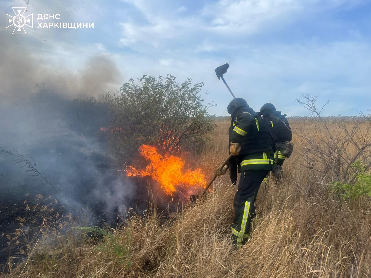
POLYGON ((227 110, 232 117, 229 151, 234 157, 221 174, 229 168, 231 178, 237 180, 237 169, 240 173, 231 228, 234 243, 240 248, 247 240, 251 221, 255 217, 255 199, 260 183, 273 167, 274 143, 262 118, 247 105, 246 100, 239 97, 233 99, 227 110))

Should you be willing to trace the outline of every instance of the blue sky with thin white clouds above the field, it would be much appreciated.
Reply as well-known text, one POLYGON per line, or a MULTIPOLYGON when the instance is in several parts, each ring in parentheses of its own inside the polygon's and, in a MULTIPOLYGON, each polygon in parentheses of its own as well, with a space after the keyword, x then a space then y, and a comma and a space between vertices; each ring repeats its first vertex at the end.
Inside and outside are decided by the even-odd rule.
MULTIPOLYGON (((1 30, 4 41, 12 40, 15 45, 7 55, 27 51, 27 57, 38 65, 29 64, 37 74, 30 76, 27 71, 21 75, 28 84, 43 82, 48 86, 49 82, 52 86, 51 80, 59 78, 50 73, 72 80, 60 85, 70 97, 101 96, 130 78, 172 74, 178 82, 188 77, 204 82, 201 96, 205 103, 217 104, 210 113, 227 115, 231 96, 214 69, 229 63, 224 75, 229 86, 255 110, 272 102, 289 116, 306 115, 295 102, 302 93, 319 95, 320 103, 330 100, 326 115, 357 115, 358 109, 371 109, 371 1, 27 3, 0 3, 4 16, 15 6, 27 6, 27 13, 34 14, 34 28, 25 36, 1 30), (94 29, 36 28, 37 13, 59 13, 61 22, 94 22, 94 29), (99 85, 92 83, 89 92, 81 93, 76 89, 86 91, 81 79, 91 77, 92 67, 101 67, 96 59, 104 59, 105 66, 114 70, 104 70, 99 85), (85 77, 76 77, 79 75, 85 77)), ((5 87, 15 90, 12 82, 16 80, 8 80, 5 87)))

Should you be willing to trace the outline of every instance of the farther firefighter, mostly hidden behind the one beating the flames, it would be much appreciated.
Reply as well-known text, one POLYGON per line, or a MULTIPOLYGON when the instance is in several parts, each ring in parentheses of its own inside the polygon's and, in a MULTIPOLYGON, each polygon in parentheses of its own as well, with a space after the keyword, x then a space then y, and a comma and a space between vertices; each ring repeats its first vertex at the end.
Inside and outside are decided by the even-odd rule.
POLYGON ((263 121, 269 126, 277 147, 274 154, 273 175, 279 181, 283 173, 283 162, 291 155, 293 150, 293 144, 290 142, 292 139, 290 125, 286 119, 286 114, 282 115, 280 111, 276 111, 276 107, 272 103, 263 105, 258 115, 262 116, 263 121))

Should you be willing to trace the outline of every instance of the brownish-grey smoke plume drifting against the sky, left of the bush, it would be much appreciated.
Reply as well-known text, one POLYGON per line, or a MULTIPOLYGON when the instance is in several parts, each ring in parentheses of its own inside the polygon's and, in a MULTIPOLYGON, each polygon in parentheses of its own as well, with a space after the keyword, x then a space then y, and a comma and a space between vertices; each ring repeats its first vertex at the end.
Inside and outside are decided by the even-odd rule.
POLYGON ((91 56, 77 67, 65 67, 58 64, 64 61, 62 58, 56 63, 47 53, 39 53, 37 46, 47 42, 34 42, 29 37, 12 36, 6 31, 0 30, 2 104, 17 103, 35 95, 39 92, 37 84, 68 99, 91 96, 101 99, 106 92, 118 88, 119 70, 109 56, 91 56))

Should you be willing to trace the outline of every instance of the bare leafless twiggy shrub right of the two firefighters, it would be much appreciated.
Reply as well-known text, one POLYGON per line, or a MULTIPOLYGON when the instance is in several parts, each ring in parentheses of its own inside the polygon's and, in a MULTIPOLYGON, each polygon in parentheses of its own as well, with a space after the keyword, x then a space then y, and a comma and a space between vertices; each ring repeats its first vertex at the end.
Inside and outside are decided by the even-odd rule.
POLYGON ((303 146, 303 159, 318 182, 348 182, 351 165, 361 160, 371 166, 371 116, 361 114, 356 120, 336 122, 323 117, 316 107, 318 96, 303 95, 296 99, 308 109, 312 123, 301 125, 298 135, 303 146))

